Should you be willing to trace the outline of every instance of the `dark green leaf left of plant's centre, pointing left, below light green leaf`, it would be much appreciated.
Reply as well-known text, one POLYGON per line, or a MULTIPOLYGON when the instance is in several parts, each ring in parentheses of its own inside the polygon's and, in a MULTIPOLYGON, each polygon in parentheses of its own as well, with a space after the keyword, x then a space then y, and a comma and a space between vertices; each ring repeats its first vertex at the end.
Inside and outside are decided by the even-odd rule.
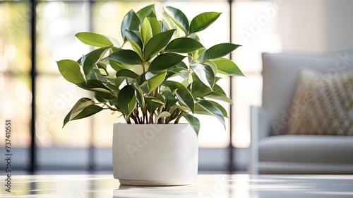
POLYGON ((133 50, 119 50, 113 52, 108 56, 108 59, 112 59, 116 62, 121 62, 123 64, 133 65, 142 64, 142 59, 138 53, 133 50))

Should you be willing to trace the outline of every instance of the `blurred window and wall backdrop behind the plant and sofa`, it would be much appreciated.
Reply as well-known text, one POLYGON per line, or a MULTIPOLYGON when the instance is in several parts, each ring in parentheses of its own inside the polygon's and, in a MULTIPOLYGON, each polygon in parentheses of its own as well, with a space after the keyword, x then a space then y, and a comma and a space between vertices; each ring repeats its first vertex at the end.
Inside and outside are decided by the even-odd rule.
MULTIPOLYGON (((56 61, 78 59, 90 49, 74 35, 93 31, 121 42, 121 19, 161 1, 0 1, 0 149, 5 120, 12 120, 13 173, 112 171, 110 112, 70 122, 65 115, 79 98, 90 97, 64 80, 56 61)), ((249 110, 261 105, 262 52, 325 52, 353 48, 353 1, 162 1, 191 20, 205 11, 222 12, 201 32, 205 47, 242 45, 231 58, 246 77, 225 78, 232 95, 227 129, 201 117, 201 172, 245 172, 250 144, 249 110)), ((4 155, 3 155, 4 156, 4 155)), ((1 161, 4 167, 4 161, 1 161)), ((1 171, 4 169, 1 168, 1 171)))

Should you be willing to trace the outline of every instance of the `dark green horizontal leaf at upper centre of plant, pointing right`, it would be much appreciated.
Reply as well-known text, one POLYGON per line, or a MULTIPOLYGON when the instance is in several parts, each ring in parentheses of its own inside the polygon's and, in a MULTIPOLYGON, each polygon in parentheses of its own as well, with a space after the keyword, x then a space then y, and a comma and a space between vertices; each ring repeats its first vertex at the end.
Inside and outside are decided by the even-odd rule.
POLYGON ((197 40, 189 37, 179 37, 165 47, 164 52, 190 53, 203 48, 203 45, 197 40))

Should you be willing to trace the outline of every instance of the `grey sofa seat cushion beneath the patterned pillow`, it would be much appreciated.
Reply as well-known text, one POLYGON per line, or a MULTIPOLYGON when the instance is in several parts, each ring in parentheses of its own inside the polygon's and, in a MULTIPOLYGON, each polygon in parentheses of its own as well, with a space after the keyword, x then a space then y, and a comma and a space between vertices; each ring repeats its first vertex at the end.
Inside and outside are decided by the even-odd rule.
POLYGON ((261 139, 259 161, 353 164, 353 136, 278 135, 261 139))

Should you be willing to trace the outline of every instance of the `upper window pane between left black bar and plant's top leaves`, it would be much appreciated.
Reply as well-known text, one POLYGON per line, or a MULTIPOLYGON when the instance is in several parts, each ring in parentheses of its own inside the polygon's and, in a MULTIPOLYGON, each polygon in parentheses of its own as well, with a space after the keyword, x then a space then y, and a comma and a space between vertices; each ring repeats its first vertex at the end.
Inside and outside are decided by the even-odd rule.
POLYGON ((59 73, 56 61, 77 60, 88 52, 88 45, 76 33, 88 30, 88 3, 62 1, 37 6, 37 71, 59 73))

